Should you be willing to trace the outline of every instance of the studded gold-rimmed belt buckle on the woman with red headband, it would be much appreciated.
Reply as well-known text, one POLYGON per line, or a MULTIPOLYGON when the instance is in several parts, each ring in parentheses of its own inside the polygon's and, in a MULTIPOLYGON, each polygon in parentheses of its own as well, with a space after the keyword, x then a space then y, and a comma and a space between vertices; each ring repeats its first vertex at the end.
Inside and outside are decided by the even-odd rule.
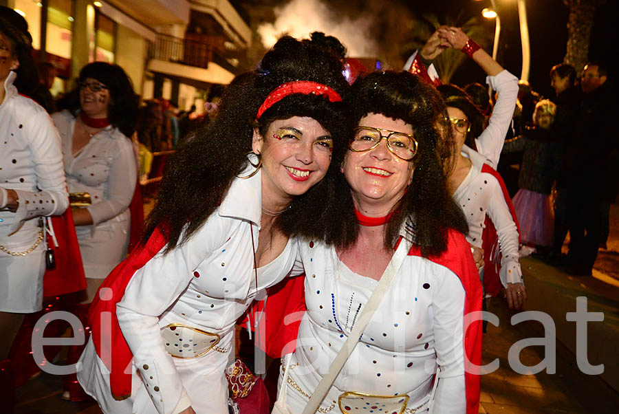
POLYGON ((180 323, 161 328, 166 351, 174 358, 198 358, 213 349, 221 337, 180 323))

